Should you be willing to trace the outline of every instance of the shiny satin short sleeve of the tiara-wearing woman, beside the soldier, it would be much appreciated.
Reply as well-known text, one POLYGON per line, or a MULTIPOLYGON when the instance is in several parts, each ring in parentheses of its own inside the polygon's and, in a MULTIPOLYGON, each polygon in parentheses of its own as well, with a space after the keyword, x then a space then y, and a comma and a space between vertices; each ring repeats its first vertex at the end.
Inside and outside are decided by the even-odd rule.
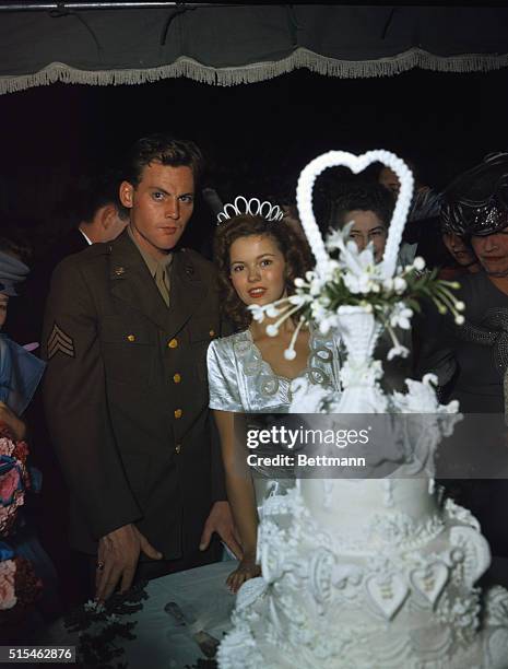
POLYGON ((235 362, 227 354, 224 340, 211 342, 206 364, 209 372, 210 409, 220 411, 245 411, 238 389, 235 362))

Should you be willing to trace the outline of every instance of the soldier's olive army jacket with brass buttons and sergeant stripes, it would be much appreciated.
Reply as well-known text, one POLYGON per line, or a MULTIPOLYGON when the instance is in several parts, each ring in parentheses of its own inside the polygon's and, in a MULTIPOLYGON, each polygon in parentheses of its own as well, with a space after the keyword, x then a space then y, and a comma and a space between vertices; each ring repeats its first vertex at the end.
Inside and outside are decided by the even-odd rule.
POLYGON ((208 404, 215 269, 174 253, 164 303, 127 231, 56 269, 43 353, 47 421, 71 493, 71 543, 128 523, 167 560, 196 551, 224 474, 208 404))

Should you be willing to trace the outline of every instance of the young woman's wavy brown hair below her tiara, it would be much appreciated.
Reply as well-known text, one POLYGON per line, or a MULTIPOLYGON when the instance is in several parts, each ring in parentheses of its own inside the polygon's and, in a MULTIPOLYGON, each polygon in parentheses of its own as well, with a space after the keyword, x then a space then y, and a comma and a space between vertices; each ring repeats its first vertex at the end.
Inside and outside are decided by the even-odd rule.
POLYGON ((224 316, 238 330, 247 328, 252 320, 250 312, 238 297, 231 281, 229 249, 240 237, 271 237, 286 262, 286 291, 288 295, 295 292, 294 280, 304 277, 311 266, 311 255, 308 246, 297 237, 291 227, 282 221, 267 221, 261 216, 241 214, 234 216, 217 227, 213 244, 213 255, 218 268, 221 289, 221 305, 224 316))

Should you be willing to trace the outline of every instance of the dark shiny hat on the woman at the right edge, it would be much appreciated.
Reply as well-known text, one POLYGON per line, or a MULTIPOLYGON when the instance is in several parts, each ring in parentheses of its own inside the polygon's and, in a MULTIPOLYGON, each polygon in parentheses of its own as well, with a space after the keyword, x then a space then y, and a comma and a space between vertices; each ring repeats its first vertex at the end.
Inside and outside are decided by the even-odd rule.
POLYGON ((485 236, 508 227, 508 152, 491 153, 445 190, 441 231, 485 236))

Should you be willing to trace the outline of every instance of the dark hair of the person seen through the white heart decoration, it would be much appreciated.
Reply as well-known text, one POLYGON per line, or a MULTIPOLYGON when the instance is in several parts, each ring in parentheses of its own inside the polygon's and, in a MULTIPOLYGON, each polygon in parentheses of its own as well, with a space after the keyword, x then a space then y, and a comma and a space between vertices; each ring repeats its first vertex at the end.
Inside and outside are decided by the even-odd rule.
POLYGON ((344 184, 333 202, 330 224, 343 227, 348 211, 374 211, 386 227, 393 214, 393 198, 390 191, 375 183, 344 184))

